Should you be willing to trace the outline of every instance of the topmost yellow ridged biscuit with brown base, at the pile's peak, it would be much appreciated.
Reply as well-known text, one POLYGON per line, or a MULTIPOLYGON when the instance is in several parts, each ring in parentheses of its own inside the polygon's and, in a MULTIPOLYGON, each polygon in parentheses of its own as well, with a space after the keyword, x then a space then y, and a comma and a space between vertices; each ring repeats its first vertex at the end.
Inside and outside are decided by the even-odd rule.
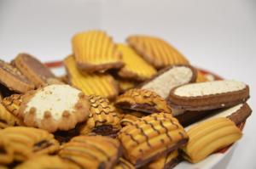
POLYGON ((112 37, 104 31, 84 31, 72 39, 73 54, 79 70, 104 72, 124 65, 112 37))

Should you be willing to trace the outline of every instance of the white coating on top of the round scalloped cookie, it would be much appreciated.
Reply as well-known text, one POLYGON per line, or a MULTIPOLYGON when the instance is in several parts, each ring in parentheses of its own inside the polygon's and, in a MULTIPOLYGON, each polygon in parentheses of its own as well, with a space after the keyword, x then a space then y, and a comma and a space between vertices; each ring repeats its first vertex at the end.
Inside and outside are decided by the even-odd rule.
POLYGON ((27 103, 25 112, 36 108, 36 119, 44 119, 44 112, 51 112, 56 121, 61 119, 64 110, 74 111, 74 105, 79 101, 78 89, 69 85, 49 85, 39 90, 27 103))

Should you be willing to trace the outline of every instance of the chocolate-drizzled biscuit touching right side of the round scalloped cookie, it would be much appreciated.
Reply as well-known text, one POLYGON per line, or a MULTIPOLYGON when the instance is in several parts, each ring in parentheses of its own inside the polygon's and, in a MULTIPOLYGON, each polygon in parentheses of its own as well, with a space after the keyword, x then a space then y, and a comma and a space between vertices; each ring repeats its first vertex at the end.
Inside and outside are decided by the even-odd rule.
POLYGON ((90 115, 80 127, 80 134, 94 132, 100 135, 111 135, 121 128, 120 116, 108 99, 102 96, 90 95, 90 115))

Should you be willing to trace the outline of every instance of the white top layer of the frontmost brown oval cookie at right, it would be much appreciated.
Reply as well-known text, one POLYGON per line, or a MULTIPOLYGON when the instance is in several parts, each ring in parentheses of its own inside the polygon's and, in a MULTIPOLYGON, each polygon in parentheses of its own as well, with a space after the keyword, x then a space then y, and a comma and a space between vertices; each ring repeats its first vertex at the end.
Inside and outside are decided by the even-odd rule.
POLYGON ((177 87, 174 94, 182 97, 196 97, 210 94, 228 93, 242 90, 246 87, 243 82, 233 80, 200 82, 177 87))

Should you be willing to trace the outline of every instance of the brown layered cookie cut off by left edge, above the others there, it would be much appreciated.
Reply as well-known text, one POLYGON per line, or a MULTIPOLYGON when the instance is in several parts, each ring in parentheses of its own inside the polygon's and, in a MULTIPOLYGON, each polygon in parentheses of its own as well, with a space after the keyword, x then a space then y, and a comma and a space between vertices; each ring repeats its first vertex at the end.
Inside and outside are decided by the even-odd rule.
POLYGON ((34 89, 34 85, 17 68, 0 59, 0 83, 16 93, 26 93, 34 89))

